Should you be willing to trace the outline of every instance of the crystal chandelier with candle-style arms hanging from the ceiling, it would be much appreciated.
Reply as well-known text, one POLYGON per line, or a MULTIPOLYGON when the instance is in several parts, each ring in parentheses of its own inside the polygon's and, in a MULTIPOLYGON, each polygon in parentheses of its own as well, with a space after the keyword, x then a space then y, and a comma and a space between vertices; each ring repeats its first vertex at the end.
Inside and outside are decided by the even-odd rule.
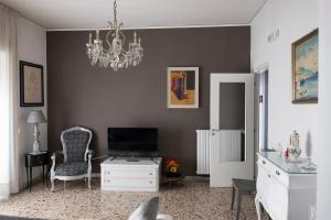
POLYGON ((99 36, 99 30, 96 30, 94 41, 92 33, 88 36, 86 44, 86 54, 90 61, 90 65, 98 63, 99 67, 111 67, 114 70, 128 68, 128 66, 137 66, 142 58, 142 47, 140 37, 137 40, 137 33, 134 33, 134 42, 129 43, 128 51, 125 51, 125 35, 121 32, 122 23, 117 22, 117 3, 114 1, 114 21, 108 21, 109 31, 106 34, 105 41, 107 48, 104 46, 99 36))

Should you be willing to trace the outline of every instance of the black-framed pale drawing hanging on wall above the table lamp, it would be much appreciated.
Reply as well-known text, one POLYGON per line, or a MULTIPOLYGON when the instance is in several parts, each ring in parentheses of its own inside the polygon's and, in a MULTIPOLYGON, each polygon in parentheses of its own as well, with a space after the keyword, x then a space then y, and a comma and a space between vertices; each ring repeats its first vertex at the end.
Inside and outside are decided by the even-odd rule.
POLYGON ((20 106, 44 106, 43 66, 20 61, 20 106))

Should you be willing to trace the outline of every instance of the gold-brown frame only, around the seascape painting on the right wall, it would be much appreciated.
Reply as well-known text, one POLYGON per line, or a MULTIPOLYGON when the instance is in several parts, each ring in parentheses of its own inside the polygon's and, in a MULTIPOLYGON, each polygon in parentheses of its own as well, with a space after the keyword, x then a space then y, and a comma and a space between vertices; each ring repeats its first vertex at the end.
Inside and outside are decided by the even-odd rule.
MULTIPOLYGON (((291 48, 291 55, 292 55, 292 103, 318 103, 318 94, 316 97, 308 97, 308 98, 298 98, 298 81, 297 81, 297 48, 298 46, 305 44, 306 42, 308 42, 309 40, 311 40, 312 37, 317 37, 319 36, 319 30, 316 29, 312 32, 306 34, 305 36, 302 36, 301 38, 297 40, 296 42, 292 43, 292 48, 291 48)), ((318 41, 318 40, 317 40, 318 41)), ((317 42, 317 51, 318 51, 318 42, 317 42)), ((318 69, 318 55, 316 57, 317 59, 317 69, 318 69)), ((318 81, 318 70, 317 70, 317 81, 318 81)), ((318 84, 316 86, 317 90, 318 90, 318 84)))

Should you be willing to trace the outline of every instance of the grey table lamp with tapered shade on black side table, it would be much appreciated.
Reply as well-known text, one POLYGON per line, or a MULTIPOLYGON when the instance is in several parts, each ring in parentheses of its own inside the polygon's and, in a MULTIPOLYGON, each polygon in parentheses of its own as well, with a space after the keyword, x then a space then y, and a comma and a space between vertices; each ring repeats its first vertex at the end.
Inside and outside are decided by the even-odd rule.
POLYGON ((34 132, 33 132, 34 142, 33 142, 32 154, 39 154, 41 151, 40 151, 40 141, 39 141, 40 132, 38 130, 38 124, 45 123, 46 118, 41 110, 33 110, 30 111, 26 122, 34 124, 34 132))

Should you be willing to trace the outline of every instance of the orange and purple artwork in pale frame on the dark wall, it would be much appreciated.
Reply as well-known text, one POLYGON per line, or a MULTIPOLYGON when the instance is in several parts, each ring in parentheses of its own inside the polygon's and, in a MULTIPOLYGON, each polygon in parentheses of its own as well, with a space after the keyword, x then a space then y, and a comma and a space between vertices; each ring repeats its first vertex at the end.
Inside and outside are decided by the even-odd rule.
POLYGON ((168 67, 168 108, 199 108, 199 67, 168 67))

